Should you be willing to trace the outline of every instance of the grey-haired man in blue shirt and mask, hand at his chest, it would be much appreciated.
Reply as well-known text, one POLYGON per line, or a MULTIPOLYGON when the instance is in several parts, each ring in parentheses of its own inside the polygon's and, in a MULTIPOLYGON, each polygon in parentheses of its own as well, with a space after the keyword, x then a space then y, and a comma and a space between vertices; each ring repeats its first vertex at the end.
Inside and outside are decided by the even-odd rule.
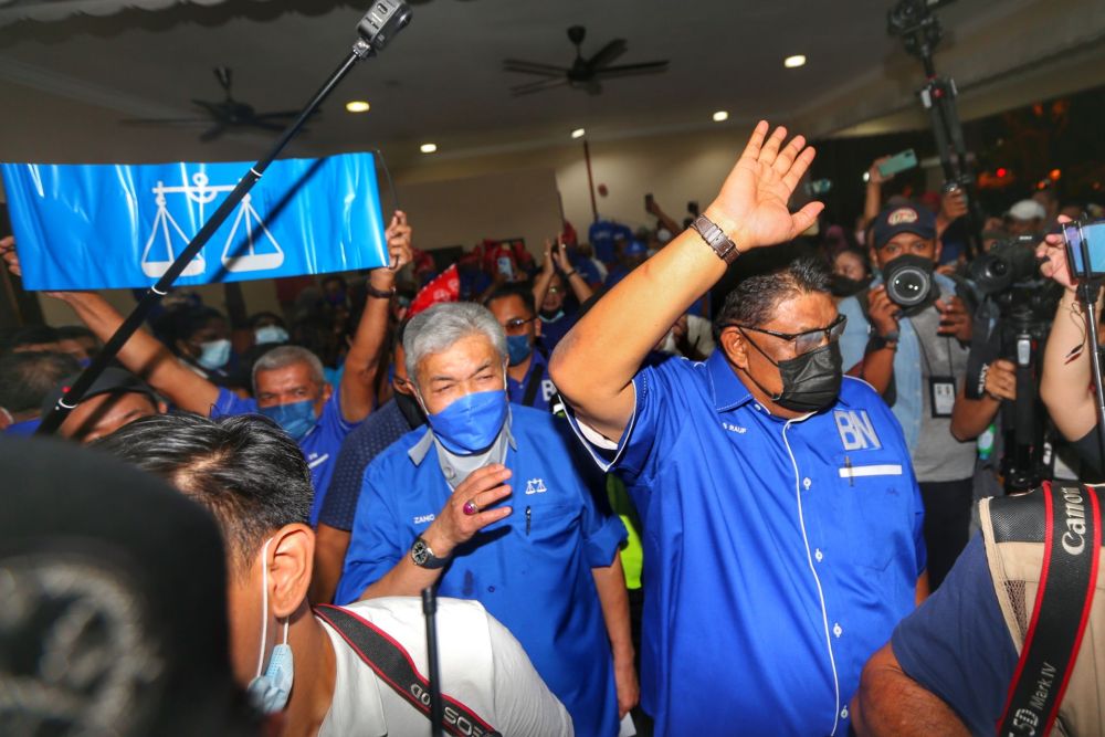
POLYGON ((625 529, 591 495, 601 480, 583 477, 590 466, 567 423, 508 403, 506 336, 485 307, 431 307, 411 318, 403 348, 430 427, 368 465, 335 602, 429 586, 480 601, 522 642, 577 734, 618 734, 638 686, 618 554, 625 529))

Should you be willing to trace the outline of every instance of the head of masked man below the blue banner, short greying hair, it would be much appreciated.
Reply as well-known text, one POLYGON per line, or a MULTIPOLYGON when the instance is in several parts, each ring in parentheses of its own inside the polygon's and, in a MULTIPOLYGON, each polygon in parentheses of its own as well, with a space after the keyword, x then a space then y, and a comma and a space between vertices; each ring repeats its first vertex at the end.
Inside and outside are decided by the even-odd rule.
POLYGON ((301 346, 273 348, 253 365, 253 396, 261 413, 295 440, 315 427, 332 393, 323 362, 301 346))

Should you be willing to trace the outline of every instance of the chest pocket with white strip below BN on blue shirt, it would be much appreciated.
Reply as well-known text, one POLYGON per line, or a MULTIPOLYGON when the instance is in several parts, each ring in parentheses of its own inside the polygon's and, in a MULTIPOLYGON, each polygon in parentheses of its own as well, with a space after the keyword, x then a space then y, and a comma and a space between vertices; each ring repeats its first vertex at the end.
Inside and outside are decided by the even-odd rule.
POLYGON ((834 465, 841 541, 856 564, 883 571, 898 552, 898 537, 912 535, 908 461, 861 453, 841 455, 834 465))

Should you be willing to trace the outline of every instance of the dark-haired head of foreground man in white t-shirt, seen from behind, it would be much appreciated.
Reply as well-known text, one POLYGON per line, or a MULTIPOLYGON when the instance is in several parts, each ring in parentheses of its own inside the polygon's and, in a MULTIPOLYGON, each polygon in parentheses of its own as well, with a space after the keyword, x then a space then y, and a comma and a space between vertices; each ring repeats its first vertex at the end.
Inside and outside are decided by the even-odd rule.
POLYGON ((313 491, 298 446, 256 415, 162 414, 94 448, 161 476, 214 515, 228 552, 234 676, 249 684, 281 643, 284 622, 311 615, 313 491))

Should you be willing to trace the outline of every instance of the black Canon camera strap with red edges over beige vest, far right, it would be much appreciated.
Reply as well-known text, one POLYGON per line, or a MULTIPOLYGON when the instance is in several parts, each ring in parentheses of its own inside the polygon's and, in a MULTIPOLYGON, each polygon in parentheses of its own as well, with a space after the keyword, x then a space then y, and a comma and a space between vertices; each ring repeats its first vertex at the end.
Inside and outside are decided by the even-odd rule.
MULTIPOLYGON (((1090 486, 1044 482, 1043 565, 1032 621, 1009 684, 998 735, 1048 735, 1059 715, 1097 585, 1101 507, 1090 486)), ((1015 527, 1014 505, 990 504, 994 533, 1015 527)))

